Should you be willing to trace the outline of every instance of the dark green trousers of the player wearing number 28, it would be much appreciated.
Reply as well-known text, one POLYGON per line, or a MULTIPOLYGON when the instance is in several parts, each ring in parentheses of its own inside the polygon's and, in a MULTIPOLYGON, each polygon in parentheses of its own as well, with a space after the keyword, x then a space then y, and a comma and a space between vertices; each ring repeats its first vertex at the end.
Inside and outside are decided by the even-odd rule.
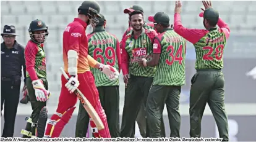
POLYGON ((224 107, 224 75, 220 69, 200 69, 191 79, 190 136, 201 137, 201 120, 208 103, 220 138, 228 141, 228 116, 224 107))

